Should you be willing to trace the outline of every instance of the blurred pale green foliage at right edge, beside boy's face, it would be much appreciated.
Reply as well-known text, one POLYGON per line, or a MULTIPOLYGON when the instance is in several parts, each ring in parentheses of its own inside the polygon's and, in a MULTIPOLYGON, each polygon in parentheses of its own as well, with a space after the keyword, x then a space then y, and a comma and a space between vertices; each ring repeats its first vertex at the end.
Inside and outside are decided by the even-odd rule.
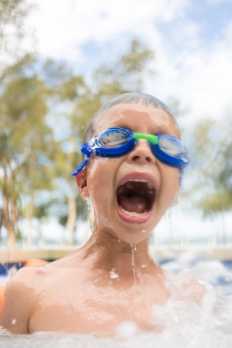
POLYGON ((204 216, 232 209, 231 118, 201 120, 193 130, 192 165, 199 172, 192 188, 204 216))

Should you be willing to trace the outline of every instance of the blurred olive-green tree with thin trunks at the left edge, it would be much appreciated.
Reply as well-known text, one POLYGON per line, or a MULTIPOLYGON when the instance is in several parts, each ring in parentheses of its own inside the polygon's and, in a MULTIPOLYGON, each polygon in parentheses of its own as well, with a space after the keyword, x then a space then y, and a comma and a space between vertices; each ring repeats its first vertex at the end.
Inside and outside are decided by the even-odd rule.
POLYGON ((0 79, 3 224, 11 247, 15 245, 19 205, 26 203, 26 216, 30 221, 36 189, 50 186, 47 144, 53 140, 45 122, 47 89, 36 74, 30 75, 33 63, 33 58, 26 56, 21 64, 10 67, 11 74, 3 74, 0 79))

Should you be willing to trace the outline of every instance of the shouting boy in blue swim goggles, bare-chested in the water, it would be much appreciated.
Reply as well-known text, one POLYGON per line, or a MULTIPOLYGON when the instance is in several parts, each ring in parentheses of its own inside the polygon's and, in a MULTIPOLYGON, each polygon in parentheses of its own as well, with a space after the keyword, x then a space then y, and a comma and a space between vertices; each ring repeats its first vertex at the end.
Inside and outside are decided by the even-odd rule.
POLYGON ((93 202, 93 235, 65 258, 17 272, 6 288, 4 328, 105 335, 133 321, 157 329, 152 307, 164 306, 170 292, 148 241, 176 202, 189 163, 179 137, 167 106, 150 95, 126 93, 100 108, 73 173, 79 193, 93 202))

